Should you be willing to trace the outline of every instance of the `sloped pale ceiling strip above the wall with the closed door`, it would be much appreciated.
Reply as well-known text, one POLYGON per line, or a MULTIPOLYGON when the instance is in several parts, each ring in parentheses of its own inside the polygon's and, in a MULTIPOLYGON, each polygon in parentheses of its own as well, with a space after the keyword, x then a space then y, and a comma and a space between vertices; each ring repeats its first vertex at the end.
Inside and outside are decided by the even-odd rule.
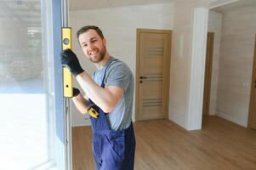
POLYGON ((128 5, 170 3, 174 0, 69 0, 70 10, 82 10, 90 8, 110 8, 128 5))

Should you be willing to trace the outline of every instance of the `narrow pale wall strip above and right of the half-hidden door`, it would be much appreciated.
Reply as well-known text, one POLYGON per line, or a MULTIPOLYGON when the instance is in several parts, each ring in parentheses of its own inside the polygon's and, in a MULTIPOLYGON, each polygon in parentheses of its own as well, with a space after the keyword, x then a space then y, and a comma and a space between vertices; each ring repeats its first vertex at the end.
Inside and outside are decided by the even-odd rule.
POLYGON ((211 83, 210 108, 209 108, 210 115, 216 114, 221 26, 222 26, 222 14, 217 13, 213 10, 209 10, 208 31, 214 32, 212 83, 211 83))

